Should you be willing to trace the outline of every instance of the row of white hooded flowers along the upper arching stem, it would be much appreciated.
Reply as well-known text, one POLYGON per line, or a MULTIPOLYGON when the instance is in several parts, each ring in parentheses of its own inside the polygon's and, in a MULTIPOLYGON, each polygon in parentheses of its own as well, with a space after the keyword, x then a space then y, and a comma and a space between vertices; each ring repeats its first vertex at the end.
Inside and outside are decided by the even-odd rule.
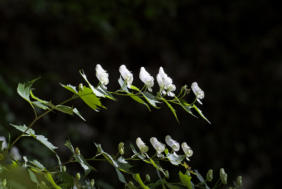
MULTIPOLYGON (((120 74, 122 78, 125 81, 125 84, 128 88, 131 89, 130 85, 133 82, 133 74, 125 67, 125 65, 120 66, 120 74)), ((101 87, 104 89, 107 89, 105 85, 109 83, 109 75, 106 73, 106 71, 100 66, 100 64, 96 65, 96 77, 101 82, 101 87)), ((151 76, 144 67, 141 67, 139 78, 142 82, 146 84, 146 87, 150 92, 152 92, 151 87, 154 86, 154 78, 151 76)), ((164 72, 164 69, 160 67, 159 73, 157 74, 157 81, 160 86, 160 93, 162 94, 168 94, 168 96, 174 96, 174 93, 172 91, 175 91, 176 87, 172 83, 172 79, 168 77, 168 75, 164 72), (167 91, 166 91, 167 90, 167 91)), ((199 98, 204 98, 204 91, 202 91, 196 82, 192 83, 191 88, 193 92, 195 93, 197 100, 200 104, 202 102, 199 100, 199 98)))

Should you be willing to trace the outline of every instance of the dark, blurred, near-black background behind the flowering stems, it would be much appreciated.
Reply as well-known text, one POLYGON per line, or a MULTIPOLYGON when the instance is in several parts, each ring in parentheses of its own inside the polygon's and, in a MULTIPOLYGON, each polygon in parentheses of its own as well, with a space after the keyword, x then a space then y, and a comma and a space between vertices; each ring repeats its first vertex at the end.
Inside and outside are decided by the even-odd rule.
MULTIPOLYGON (((118 101, 101 99, 107 109, 100 112, 81 99, 66 104, 77 107, 87 122, 56 111, 38 120, 32 129, 59 147, 56 152, 62 162, 71 155, 64 145, 68 137, 85 158, 96 153, 92 141, 102 144, 109 154, 116 154, 119 142, 124 142, 124 157, 129 158, 133 154, 129 143, 135 144, 136 138, 147 143, 153 155, 149 139, 165 142, 170 135, 192 148, 188 165, 204 177, 213 169, 216 181, 219 169, 225 169, 228 186, 219 188, 232 186, 239 175, 242 189, 277 188, 282 156, 279 12, 279 6, 267 0, 1 0, 0 135, 8 138, 10 132, 14 140, 20 131, 9 123, 29 125, 34 119, 32 108, 17 94, 18 83, 41 76, 33 85, 35 96, 60 104, 72 93, 59 82, 87 84, 81 69, 96 86, 95 67, 100 64, 109 73, 108 90, 116 91, 120 65, 132 71, 133 85, 141 88, 140 67, 156 78, 162 66, 173 79, 176 94, 185 84, 198 83, 205 97, 203 105, 196 102, 196 106, 211 125, 173 104, 178 124, 164 103, 149 112, 130 97, 116 95, 118 101)), ((157 90, 155 80, 153 92, 157 90)), ((190 93, 184 99, 191 103, 194 98, 190 93)), ((54 153, 33 138, 23 137, 15 146, 47 168, 57 165, 54 153)), ((149 174, 151 180, 157 180, 155 168, 149 164, 130 163, 136 164, 132 170, 140 172, 142 179, 149 174)), ((87 176, 96 184, 104 181, 124 188, 109 163, 90 164, 99 171, 87 176)), ((182 166, 160 164, 169 171, 171 182, 179 182, 179 170, 185 172, 182 166)), ((75 163, 67 164, 67 170, 74 176, 78 170, 83 174, 75 163)), ((125 178, 133 181, 130 175, 125 178)))

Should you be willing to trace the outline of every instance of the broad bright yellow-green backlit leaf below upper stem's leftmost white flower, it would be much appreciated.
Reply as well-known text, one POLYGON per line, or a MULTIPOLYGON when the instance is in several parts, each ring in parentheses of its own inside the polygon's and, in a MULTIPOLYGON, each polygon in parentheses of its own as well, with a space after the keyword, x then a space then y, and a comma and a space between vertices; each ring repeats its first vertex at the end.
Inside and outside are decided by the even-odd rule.
POLYGON ((101 104, 101 102, 100 102, 101 98, 98 98, 95 94, 89 94, 91 92, 92 92, 92 90, 89 87, 83 86, 83 92, 78 91, 78 95, 88 106, 90 106, 95 111, 98 111, 97 109, 100 109, 97 106, 106 108, 101 104), (88 95, 84 95, 84 94, 88 94, 88 95), (81 96, 81 95, 84 95, 84 96, 81 96))

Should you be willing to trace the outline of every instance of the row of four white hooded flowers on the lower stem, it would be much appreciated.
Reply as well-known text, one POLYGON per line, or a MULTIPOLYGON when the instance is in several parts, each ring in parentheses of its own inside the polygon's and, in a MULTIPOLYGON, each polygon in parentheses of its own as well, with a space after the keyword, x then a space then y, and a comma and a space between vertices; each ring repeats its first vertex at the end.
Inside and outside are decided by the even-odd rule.
MULTIPOLYGON (((157 156, 158 157, 164 157, 164 155, 162 155, 162 152, 166 149, 166 145, 160 143, 155 137, 152 137, 150 139, 151 144, 153 145, 153 147, 155 148, 155 150, 157 151, 157 156)), ((138 146, 138 148, 140 149, 140 153, 143 157, 145 157, 144 153, 148 151, 148 146, 145 145, 145 143, 140 139, 136 139, 136 144, 138 146)), ((175 151, 179 150, 179 143, 176 142, 175 140, 172 140, 171 137, 168 135, 166 136, 166 144, 168 144, 168 146, 170 146, 173 150, 173 155, 175 155, 175 157, 178 157, 178 155, 175 153, 175 151)), ((193 151, 191 150, 191 148, 186 144, 186 142, 183 142, 182 145, 182 150, 185 153, 186 159, 188 161, 189 158, 191 157, 193 154, 193 151)))

